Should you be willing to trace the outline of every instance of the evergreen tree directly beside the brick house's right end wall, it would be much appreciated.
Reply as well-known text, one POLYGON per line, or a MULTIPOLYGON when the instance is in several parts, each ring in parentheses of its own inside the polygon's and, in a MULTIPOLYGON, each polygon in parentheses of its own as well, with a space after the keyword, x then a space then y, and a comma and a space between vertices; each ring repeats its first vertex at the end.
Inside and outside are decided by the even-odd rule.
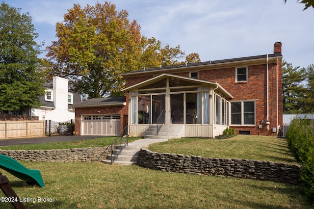
POLYGON ((293 67, 283 60, 282 74, 284 113, 302 113, 306 100, 306 88, 301 84, 306 78, 305 68, 293 67))

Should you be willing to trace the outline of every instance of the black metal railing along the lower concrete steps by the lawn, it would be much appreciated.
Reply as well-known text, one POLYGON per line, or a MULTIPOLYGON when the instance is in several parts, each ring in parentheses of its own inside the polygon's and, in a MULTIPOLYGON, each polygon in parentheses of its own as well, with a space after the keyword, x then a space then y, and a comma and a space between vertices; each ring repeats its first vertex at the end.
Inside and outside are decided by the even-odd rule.
MULTIPOLYGON (((100 157, 106 152, 106 150, 111 148, 111 164, 118 157, 121 151, 124 149, 126 145, 129 144, 129 132, 128 125, 124 127, 123 131, 114 139, 114 141, 104 150, 104 152, 100 155, 100 157)), ((98 157, 98 159, 100 159, 98 157)))

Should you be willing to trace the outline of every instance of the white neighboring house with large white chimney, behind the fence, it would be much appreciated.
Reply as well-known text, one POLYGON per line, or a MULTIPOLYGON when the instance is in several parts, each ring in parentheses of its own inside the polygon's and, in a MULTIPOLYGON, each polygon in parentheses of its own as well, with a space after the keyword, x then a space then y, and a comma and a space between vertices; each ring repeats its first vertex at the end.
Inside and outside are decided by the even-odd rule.
POLYGON ((43 105, 31 108, 31 116, 55 122, 74 120, 75 111, 69 105, 80 103, 81 99, 80 94, 68 90, 68 83, 68 79, 55 76, 52 78, 52 85, 44 84, 45 95, 39 97, 43 105))

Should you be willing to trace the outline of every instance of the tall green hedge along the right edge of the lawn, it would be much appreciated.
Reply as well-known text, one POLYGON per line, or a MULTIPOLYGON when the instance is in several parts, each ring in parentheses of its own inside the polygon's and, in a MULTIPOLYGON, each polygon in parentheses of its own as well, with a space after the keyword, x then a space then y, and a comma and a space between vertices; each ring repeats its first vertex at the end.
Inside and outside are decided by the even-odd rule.
POLYGON ((306 183, 307 196, 314 206, 314 127, 307 120, 295 118, 287 131, 288 147, 301 163, 301 180, 306 183))

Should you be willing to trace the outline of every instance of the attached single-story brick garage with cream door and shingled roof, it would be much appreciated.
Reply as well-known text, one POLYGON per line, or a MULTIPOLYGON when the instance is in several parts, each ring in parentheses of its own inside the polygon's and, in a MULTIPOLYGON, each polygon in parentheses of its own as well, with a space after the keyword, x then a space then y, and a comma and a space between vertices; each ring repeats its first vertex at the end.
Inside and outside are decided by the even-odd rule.
POLYGON ((71 107, 78 135, 119 135, 128 122, 126 97, 93 98, 71 107))

